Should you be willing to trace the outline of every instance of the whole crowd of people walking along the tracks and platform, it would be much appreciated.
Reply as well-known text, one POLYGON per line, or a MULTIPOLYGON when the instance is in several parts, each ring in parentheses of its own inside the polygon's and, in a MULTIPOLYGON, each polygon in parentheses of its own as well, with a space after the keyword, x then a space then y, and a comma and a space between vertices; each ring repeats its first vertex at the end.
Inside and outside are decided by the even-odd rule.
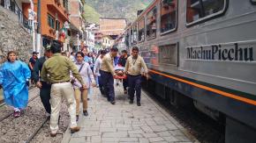
POLYGON ((118 56, 117 47, 107 53, 101 50, 98 55, 88 53, 84 47, 70 55, 61 52, 57 43, 45 47, 44 56, 37 58, 36 52, 25 62, 17 60, 16 52, 9 52, 7 60, 0 68, 0 85, 4 89, 5 103, 14 108, 14 118, 19 118, 28 102, 29 80, 40 89, 41 103, 50 118, 50 135, 58 131, 59 112, 62 98, 65 99, 71 117, 71 132, 78 132, 79 105, 83 115, 88 116, 87 104, 93 87, 100 89, 110 104, 116 104, 114 81, 123 82, 124 94, 128 93, 133 104, 136 93, 140 106, 141 75, 147 75, 147 66, 139 56, 139 48, 132 47, 130 56, 126 50, 118 56))

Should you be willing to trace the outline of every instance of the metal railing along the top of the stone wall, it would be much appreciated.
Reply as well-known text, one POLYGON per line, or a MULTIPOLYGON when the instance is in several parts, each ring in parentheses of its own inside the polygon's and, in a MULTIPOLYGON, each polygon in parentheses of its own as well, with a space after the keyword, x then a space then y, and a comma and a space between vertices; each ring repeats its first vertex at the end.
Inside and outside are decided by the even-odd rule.
POLYGON ((27 30, 31 30, 31 27, 28 25, 28 19, 19 9, 19 6, 15 0, 0 0, 0 5, 3 6, 5 9, 8 9, 15 13, 19 18, 19 23, 24 25, 24 27, 26 27, 27 30))

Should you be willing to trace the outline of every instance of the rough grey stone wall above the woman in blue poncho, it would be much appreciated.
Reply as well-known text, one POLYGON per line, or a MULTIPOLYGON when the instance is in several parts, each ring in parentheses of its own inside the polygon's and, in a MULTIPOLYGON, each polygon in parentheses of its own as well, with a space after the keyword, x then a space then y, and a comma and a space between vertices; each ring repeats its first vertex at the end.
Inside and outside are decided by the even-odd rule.
POLYGON ((28 62, 33 52, 32 36, 17 15, 0 6, 0 63, 9 51, 16 51, 19 60, 28 62))

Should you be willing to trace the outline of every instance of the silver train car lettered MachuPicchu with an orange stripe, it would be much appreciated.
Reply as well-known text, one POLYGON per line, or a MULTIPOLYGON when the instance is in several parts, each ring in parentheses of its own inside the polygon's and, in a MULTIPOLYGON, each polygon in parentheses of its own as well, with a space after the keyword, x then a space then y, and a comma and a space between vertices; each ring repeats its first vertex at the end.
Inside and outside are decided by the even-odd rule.
POLYGON ((154 0, 126 29, 147 88, 224 120, 225 142, 256 142, 256 1, 154 0))

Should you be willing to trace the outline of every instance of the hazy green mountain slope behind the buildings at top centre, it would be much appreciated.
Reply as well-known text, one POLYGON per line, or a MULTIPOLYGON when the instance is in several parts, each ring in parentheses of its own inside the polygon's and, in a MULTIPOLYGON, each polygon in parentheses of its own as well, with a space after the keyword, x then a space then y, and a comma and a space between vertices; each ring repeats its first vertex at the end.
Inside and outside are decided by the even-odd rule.
POLYGON ((132 22, 137 11, 144 10, 153 0, 86 0, 84 18, 99 22, 99 18, 127 18, 132 22))

